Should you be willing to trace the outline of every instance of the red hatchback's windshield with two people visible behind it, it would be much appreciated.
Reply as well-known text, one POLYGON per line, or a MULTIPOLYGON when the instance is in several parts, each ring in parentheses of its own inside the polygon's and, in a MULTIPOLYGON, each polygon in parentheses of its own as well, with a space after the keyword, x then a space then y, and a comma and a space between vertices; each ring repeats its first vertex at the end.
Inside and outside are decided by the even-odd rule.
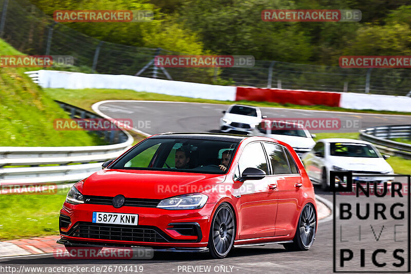
POLYGON ((223 174, 238 143, 186 138, 149 138, 120 158, 112 169, 223 174))

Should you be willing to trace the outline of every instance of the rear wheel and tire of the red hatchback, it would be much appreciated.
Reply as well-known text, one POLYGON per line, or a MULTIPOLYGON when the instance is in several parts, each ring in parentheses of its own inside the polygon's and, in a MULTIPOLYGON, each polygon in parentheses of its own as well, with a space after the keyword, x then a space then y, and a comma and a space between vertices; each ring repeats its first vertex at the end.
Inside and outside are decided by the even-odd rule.
POLYGON ((292 243, 284 244, 290 251, 304 251, 310 249, 315 239, 317 214, 312 204, 307 204, 300 214, 295 236, 292 243))

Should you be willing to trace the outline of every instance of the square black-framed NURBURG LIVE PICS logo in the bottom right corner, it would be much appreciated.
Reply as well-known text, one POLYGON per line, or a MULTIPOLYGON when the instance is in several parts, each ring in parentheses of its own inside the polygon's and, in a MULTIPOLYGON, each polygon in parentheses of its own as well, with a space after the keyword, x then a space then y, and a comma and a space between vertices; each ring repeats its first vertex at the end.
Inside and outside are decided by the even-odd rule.
POLYGON ((410 271, 410 175, 330 172, 333 271, 410 271))

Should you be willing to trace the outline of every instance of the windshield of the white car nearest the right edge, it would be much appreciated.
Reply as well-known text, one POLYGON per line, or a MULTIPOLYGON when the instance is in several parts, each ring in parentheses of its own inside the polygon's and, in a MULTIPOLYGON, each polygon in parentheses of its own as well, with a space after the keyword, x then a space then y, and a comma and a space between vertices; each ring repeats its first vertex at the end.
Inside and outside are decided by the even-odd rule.
POLYGON ((330 143, 331 156, 378 158, 379 154, 369 144, 330 143))

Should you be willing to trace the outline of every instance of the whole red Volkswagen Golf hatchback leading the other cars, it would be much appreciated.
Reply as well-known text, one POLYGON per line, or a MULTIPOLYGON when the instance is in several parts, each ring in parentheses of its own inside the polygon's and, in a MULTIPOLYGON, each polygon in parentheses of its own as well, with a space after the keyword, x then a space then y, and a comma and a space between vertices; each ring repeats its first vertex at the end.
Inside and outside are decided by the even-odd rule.
POLYGON ((58 241, 210 252, 315 238, 314 189, 286 143, 265 137, 159 134, 77 182, 60 211, 58 241))

